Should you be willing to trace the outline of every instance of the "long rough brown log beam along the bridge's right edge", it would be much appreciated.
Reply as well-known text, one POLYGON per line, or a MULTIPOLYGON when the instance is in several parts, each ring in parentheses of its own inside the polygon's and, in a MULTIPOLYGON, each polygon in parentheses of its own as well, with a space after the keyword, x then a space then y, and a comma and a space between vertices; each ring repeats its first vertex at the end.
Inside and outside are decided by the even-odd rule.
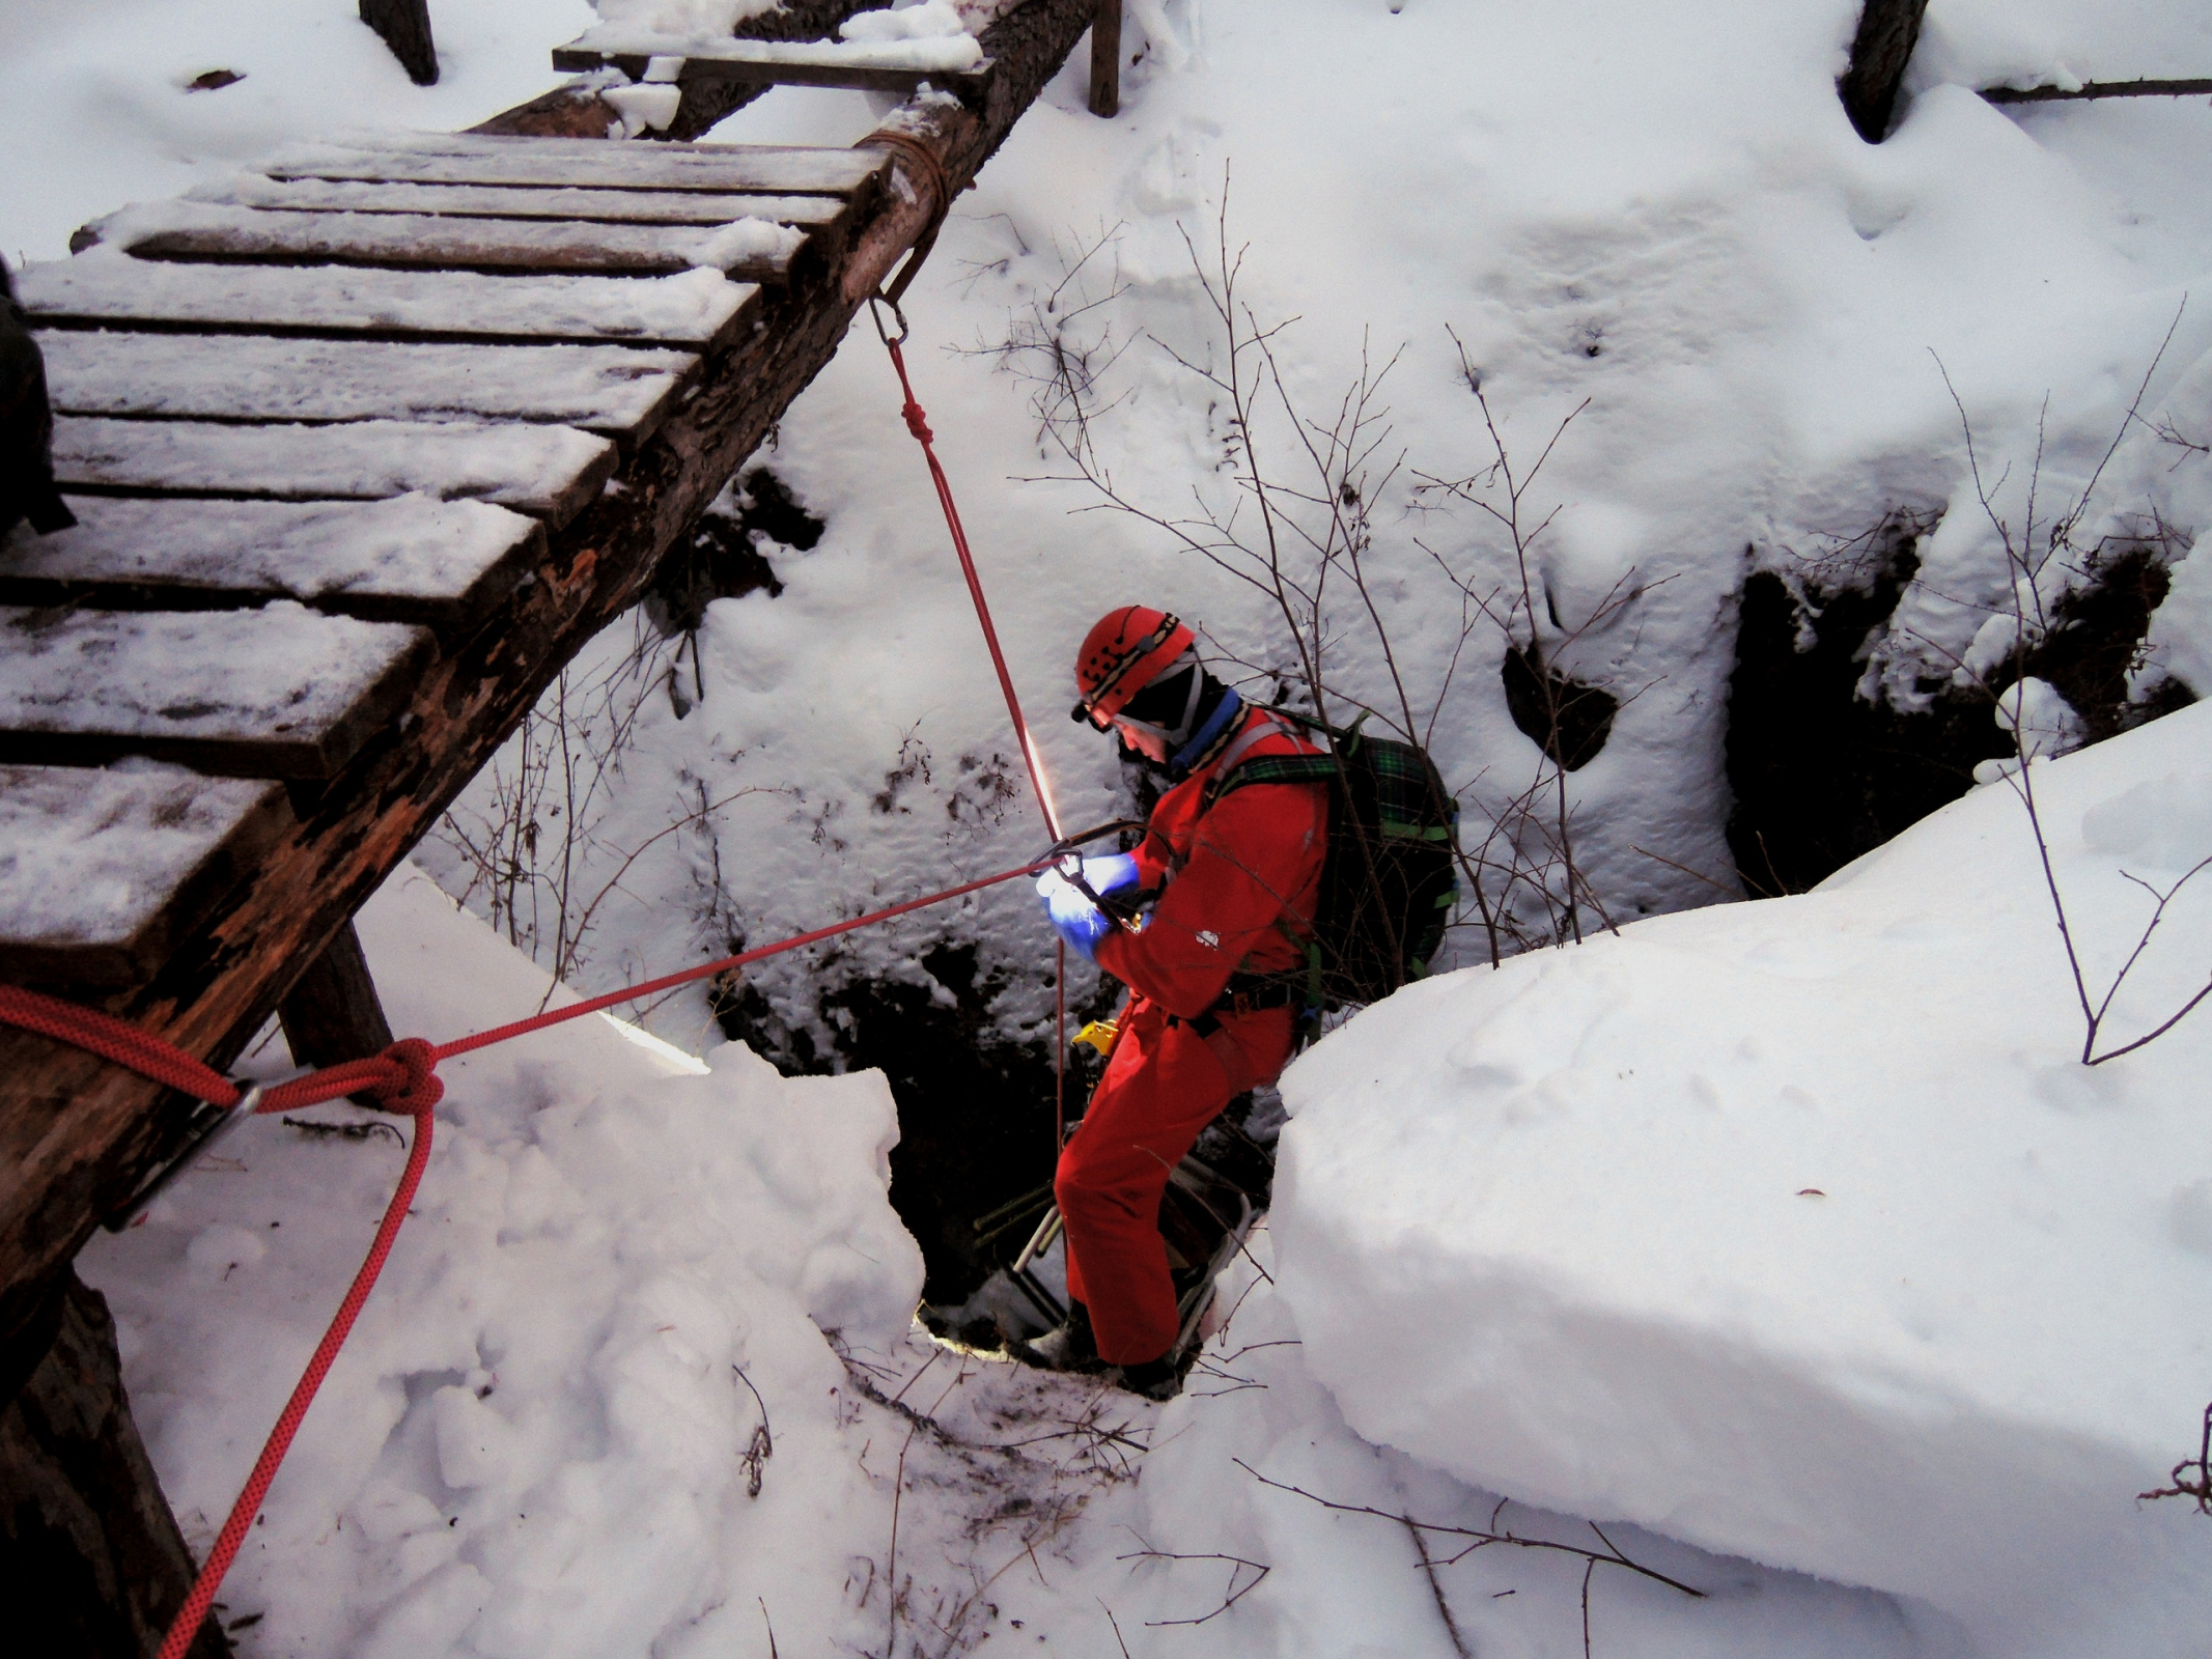
MULTIPOLYGON (((1091 0, 1029 0, 982 38, 998 73, 980 113, 945 104, 907 111, 909 128, 940 157, 953 188, 973 179, 1088 22, 1091 0)), ((889 164, 883 150, 863 155, 874 168, 889 164)), ((918 206, 925 217, 933 208, 927 190, 918 206)), ((898 259, 907 243, 896 226, 911 226, 911 241, 914 208, 896 197, 876 208, 843 274, 763 296, 761 327, 708 363, 699 396, 626 460, 622 493, 604 495, 562 529, 538 580, 422 672, 407 708, 385 723, 405 728, 407 741, 363 750, 310 805, 296 807, 299 827, 263 860, 259 880, 195 936, 192 949, 100 1006, 210 1064, 228 1064, 274 1009, 288 964, 323 947, 560 666, 637 599, 661 553, 821 372, 858 307, 852 288, 898 259), (880 226, 891 230, 876 234, 880 226)), ((128 1197, 175 1139, 177 1117, 150 1110, 155 1093, 86 1055, 0 1033, 0 1345, 93 1219, 128 1197)))

